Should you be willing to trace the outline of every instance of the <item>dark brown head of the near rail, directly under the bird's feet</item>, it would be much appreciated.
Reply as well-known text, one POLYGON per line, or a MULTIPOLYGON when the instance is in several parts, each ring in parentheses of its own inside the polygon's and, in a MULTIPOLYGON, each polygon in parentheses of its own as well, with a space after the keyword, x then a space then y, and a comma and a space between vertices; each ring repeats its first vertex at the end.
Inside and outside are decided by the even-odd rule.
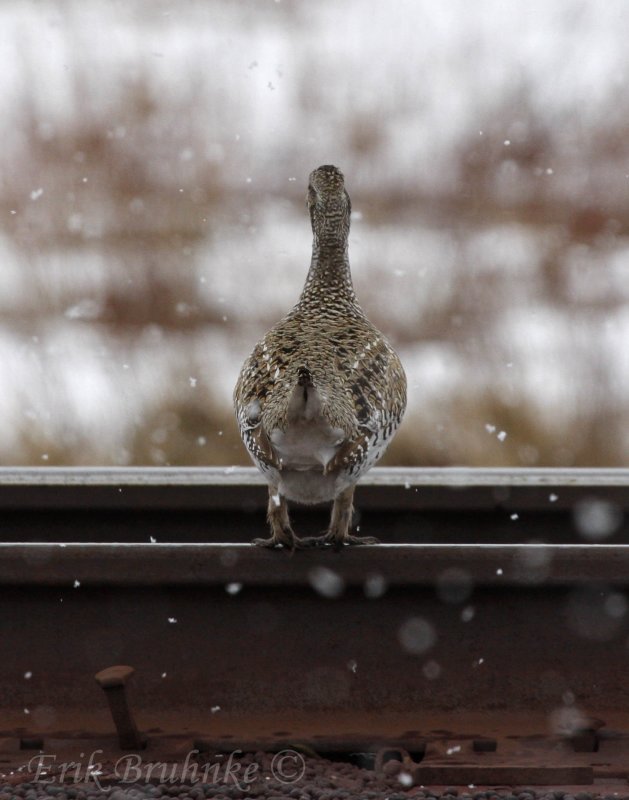
POLYGON ((230 544, 0 543, 0 585, 343 587, 377 576, 387 587, 629 584, 629 545, 378 545, 344 552, 230 544))

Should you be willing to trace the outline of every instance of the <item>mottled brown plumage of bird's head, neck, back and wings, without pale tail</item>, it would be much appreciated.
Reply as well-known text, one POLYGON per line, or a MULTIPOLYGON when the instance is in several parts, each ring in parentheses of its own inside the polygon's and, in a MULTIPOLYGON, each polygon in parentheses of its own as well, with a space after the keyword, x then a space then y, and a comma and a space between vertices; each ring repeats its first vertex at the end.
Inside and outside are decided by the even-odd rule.
POLYGON ((356 300, 347 238, 351 204, 336 167, 310 176, 312 262, 297 305, 255 346, 234 391, 241 435, 263 472, 281 468, 270 439, 286 430, 300 376, 309 376, 321 414, 343 432, 325 473, 354 481, 384 452, 406 406, 398 356, 356 300))

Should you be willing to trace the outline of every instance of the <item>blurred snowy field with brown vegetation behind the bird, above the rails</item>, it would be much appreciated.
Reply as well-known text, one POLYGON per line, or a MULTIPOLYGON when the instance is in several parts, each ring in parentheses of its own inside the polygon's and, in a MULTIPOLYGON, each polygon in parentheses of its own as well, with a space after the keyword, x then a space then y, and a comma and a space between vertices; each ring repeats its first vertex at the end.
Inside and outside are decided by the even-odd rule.
POLYGON ((625 0, 6 0, 0 461, 249 463, 246 355, 341 167, 386 462, 629 462, 625 0))

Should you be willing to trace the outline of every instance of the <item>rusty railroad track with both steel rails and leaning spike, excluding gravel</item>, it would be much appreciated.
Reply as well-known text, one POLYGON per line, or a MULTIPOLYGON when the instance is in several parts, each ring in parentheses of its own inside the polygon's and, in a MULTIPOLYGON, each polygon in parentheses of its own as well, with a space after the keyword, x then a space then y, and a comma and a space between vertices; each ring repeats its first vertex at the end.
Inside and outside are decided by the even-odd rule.
POLYGON ((357 503, 382 545, 289 554, 247 544, 250 469, 0 470, 0 773, 289 750, 629 794, 629 470, 374 469, 357 503))

